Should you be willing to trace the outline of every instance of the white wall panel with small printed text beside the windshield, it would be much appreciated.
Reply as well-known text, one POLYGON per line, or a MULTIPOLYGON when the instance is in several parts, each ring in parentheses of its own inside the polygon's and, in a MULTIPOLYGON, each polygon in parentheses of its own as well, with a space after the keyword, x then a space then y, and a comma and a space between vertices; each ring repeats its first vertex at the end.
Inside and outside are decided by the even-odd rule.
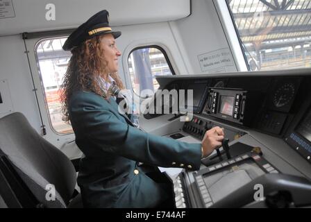
POLYGON ((192 1, 192 14, 170 24, 187 64, 187 73, 184 74, 237 71, 211 0, 192 1), (204 58, 205 61, 200 62, 204 58))

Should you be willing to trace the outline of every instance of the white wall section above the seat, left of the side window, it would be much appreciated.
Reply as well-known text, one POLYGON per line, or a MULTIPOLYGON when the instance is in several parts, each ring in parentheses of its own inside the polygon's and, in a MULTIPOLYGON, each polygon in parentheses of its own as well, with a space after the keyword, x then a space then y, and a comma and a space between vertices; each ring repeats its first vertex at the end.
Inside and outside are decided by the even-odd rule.
MULTIPOLYGON (((39 131, 40 117, 24 51, 25 46, 20 35, 0 37, 0 80, 6 80, 10 93, 10 97, 2 98, 3 103, 0 106, 12 104, 11 112, 23 112, 31 125, 39 131)), ((3 95, 1 90, 3 88, 0 88, 3 95)), ((0 117, 11 112, 0 113, 0 117)))

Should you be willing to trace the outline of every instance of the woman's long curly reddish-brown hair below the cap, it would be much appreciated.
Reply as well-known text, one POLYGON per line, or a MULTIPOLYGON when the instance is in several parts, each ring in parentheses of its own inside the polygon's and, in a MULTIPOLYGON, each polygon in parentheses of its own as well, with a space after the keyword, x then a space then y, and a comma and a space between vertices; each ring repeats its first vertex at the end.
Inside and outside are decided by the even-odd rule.
POLYGON ((68 105, 72 94, 78 90, 94 92, 109 99, 108 94, 103 94, 98 84, 98 77, 109 82, 110 75, 120 89, 124 89, 117 73, 108 74, 105 52, 101 49, 101 36, 86 40, 80 46, 72 49, 72 58, 69 60, 68 69, 62 82, 62 113, 65 121, 69 122, 68 105))

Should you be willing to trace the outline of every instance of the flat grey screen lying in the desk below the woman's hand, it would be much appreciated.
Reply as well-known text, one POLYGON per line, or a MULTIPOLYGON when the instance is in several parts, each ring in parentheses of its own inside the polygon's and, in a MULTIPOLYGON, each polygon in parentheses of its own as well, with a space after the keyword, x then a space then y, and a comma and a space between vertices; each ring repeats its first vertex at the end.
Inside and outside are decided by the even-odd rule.
POLYGON ((203 180, 212 198, 216 203, 233 191, 243 187, 255 178, 264 175, 253 159, 247 159, 243 162, 230 165, 221 171, 215 173, 206 173, 203 180))

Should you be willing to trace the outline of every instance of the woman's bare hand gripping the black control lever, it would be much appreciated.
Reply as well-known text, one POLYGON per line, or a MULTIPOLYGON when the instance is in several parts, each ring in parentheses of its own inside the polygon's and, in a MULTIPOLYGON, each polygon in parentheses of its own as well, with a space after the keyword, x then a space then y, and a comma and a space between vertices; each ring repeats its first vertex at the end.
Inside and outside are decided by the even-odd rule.
POLYGON ((224 130, 219 126, 206 131, 202 139, 202 157, 207 157, 215 148, 219 148, 223 139, 224 130))

